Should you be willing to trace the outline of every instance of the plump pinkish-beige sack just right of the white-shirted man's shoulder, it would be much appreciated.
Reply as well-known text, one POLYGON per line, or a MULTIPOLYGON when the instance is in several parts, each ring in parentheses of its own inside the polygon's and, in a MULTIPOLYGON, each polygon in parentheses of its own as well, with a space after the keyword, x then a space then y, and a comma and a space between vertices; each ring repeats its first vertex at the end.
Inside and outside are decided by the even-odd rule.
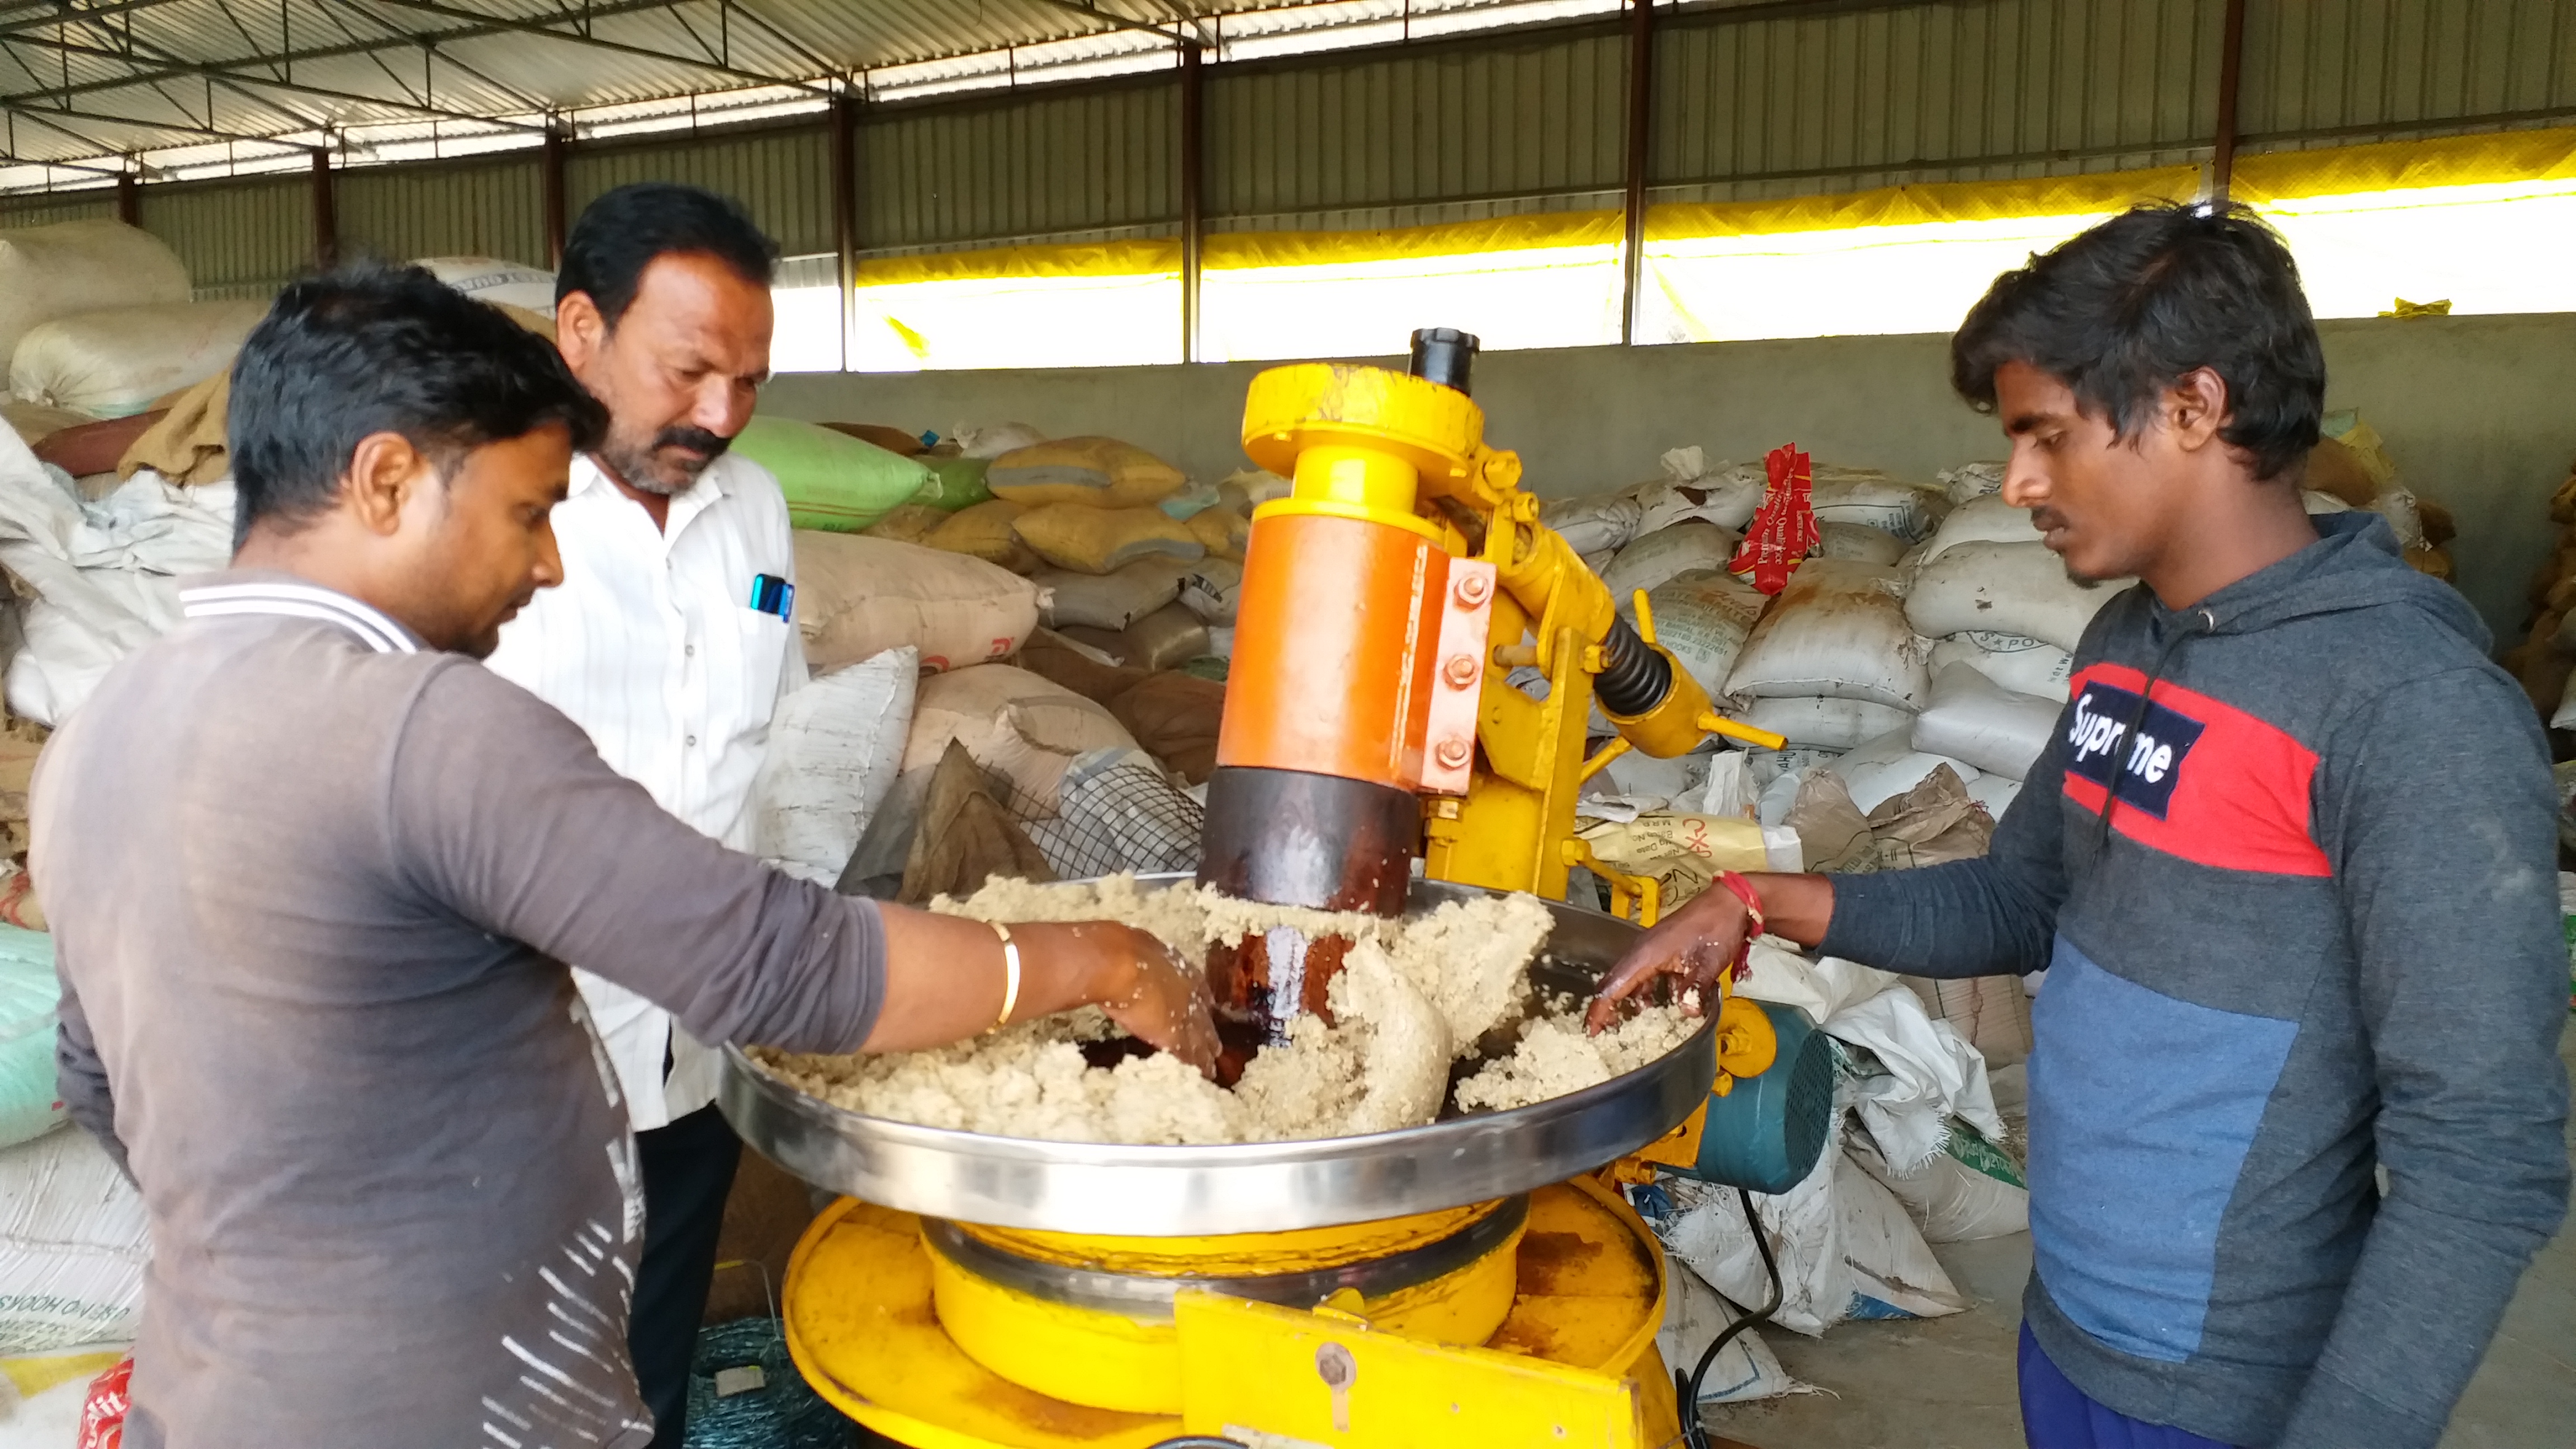
POLYGON ((927 670, 1020 650, 1038 627, 1038 585, 1010 570, 894 539, 796 531, 796 632, 829 673, 912 647, 927 670))

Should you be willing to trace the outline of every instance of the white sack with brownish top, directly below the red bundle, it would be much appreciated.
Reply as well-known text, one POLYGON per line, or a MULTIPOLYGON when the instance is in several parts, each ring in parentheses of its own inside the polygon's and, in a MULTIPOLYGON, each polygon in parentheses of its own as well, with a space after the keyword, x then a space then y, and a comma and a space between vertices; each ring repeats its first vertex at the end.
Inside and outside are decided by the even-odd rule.
POLYGON ((1808 559, 1744 642, 1726 694, 1922 709, 1932 650, 1906 627, 1899 588, 1888 567, 1808 559))

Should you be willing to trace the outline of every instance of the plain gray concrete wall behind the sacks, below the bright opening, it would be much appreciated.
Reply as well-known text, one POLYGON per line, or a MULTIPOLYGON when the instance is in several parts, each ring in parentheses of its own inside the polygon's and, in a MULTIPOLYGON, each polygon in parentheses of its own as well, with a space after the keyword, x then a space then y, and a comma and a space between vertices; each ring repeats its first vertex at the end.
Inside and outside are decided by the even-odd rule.
MULTIPOLYGON (((2321 330, 2326 405, 2360 407, 2401 477, 2450 505, 2460 588, 2512 642, 2550 552, 2543 505, 2576 459, 2576 315, 2321 330)), ((1476 361, 1476 400, 1492 441, 1517 449, 1551 498, 1654 477, 1662 451, 1685 443, 1757 459, 1795 441, 1821 462, 1929 480, 2004 454, 1994 420, 1953 397, 1947 348, 1909 335, 1492 353, 1476 361)), ((1244 467, 1236 425, 1260 366, 791 374, 765 407, 943 433, 999 420, 1113 433, 1216 480, 1244 467)))

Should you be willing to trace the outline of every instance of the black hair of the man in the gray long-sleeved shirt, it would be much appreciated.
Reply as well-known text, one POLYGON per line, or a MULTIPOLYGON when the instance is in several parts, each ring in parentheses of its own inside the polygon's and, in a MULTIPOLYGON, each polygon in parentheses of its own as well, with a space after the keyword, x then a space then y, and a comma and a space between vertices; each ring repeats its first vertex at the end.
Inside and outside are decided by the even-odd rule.
POLYGON ((448 474, 471 449, 546 425, 587 451, 608 410, 554 343, 497 307, 417 266, 361 260, 294 281, 232 364, 232 541, 263 518, 327 511, 371 433, 402 433, 448 474))

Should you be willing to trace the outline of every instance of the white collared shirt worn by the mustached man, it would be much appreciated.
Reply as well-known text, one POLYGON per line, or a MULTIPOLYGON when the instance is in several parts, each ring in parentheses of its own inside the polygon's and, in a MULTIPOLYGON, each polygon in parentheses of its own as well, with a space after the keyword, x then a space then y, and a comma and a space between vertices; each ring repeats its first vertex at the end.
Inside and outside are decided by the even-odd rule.
MULTIPOLYGON (((554 508, 564 583, 502 627, 495 673, 562 709, 662 810, 752 848, 752 781, 778 699, 806 681, 796 627, 752 608, 752 580, 796 580, 778 480, 726 454, 670 500, 670 526, 572 462, 554 508)), ((716 1101, 719 1057, 670 1013, 574 969, 639 1132, 716 1101), (670 1055, 665 1080, 662 1060, 670 1055)))

